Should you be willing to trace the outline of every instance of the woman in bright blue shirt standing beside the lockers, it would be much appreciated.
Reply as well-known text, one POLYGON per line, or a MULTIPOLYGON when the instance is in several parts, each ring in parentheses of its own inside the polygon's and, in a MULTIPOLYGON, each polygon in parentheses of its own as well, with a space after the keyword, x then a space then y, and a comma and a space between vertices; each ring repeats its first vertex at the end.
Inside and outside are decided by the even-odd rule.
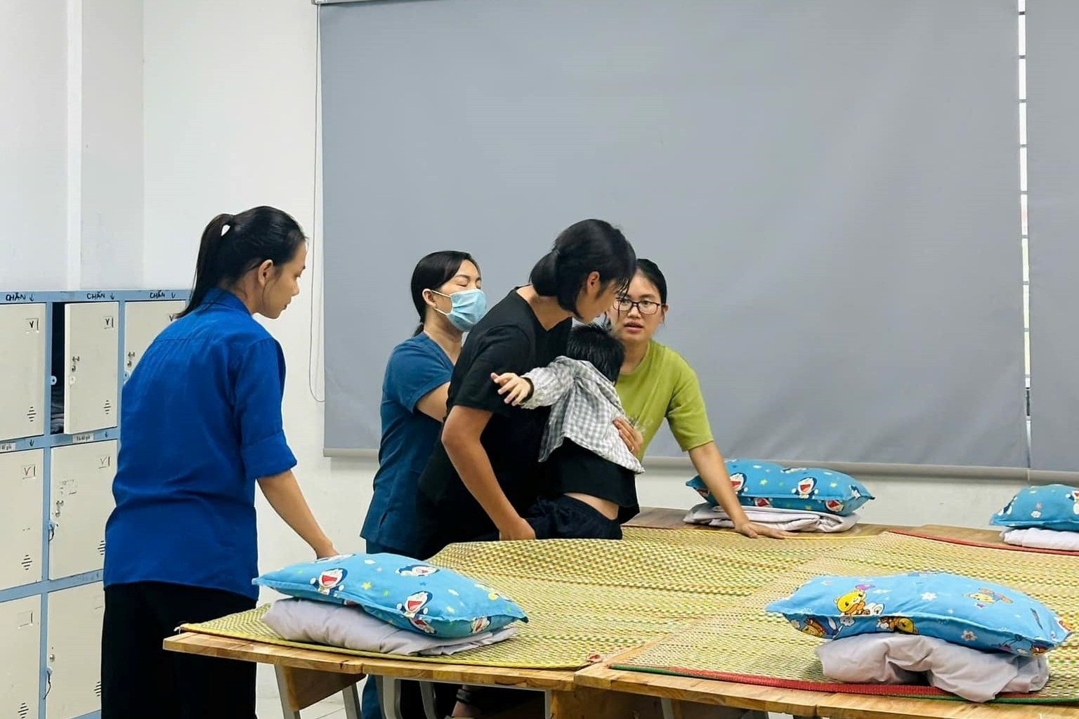
POLYGON ((282 427, 285 360, 255 319, 299 293, 306 239, 272 207, 219 215, 199 247, 180 317, 124 385, 106 525, 101 717, 255 717, 255 665, 166 652, 180 624, 255 607, 255 485, 316 556, 337 554, 312 516, 282 427))

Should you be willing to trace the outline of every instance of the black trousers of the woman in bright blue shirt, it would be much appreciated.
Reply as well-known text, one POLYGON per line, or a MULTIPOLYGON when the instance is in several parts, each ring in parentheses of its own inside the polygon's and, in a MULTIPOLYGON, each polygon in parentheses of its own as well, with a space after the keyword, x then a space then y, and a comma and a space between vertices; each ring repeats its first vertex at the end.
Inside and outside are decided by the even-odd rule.
POLYGON ((101 719, 254 719, 255 664, 165 651, 180 624, 255 607, 199 586, 136 582, 105 589, 101 719))

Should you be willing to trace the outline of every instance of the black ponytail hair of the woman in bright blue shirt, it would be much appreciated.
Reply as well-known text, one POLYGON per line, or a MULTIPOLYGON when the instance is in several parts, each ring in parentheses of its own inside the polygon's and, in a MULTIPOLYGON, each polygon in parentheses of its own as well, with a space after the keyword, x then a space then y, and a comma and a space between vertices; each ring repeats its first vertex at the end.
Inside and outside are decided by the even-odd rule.
POLYGON ((210 290, 230 287, 267 260, 279 271, 306 239, 300 223, 276 207, 218 215, 203 231, 191 299, 178 317, 197 309, 210 290))

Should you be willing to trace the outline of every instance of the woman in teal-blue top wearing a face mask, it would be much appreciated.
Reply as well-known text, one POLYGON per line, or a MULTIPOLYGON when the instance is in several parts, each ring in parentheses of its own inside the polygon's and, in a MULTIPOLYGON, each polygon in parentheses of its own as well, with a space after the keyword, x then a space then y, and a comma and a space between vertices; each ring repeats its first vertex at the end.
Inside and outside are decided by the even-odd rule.
POLYGON ((382 382, 382 441, 374 494, 360 535, 368 552, 415 556, 416 479, 427 466, 446 417, 446 396, 461 341, 487 298, 467 252, 433 252, 412 271, 415 334, 394 347, 382 382))

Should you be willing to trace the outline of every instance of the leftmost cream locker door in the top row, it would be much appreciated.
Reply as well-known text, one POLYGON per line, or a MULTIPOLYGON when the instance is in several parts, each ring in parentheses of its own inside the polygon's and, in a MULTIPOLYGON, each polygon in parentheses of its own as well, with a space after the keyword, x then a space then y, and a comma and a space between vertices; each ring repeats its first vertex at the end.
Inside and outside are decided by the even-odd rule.
POLYGON ((0 440, 44 434, 45 305, 0 305, 0 440))

